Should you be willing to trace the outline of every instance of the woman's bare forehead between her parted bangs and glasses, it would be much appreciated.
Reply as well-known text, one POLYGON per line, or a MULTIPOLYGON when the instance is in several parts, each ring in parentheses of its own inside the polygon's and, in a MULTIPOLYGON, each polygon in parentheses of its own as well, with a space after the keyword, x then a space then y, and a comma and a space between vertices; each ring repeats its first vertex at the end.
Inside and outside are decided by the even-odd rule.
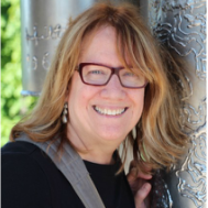
POLYGON ((116 29, 105 25, 86 34, 81 43, 79 59, 80 62, 108 64, 116 67, 123 66, 116 29))

